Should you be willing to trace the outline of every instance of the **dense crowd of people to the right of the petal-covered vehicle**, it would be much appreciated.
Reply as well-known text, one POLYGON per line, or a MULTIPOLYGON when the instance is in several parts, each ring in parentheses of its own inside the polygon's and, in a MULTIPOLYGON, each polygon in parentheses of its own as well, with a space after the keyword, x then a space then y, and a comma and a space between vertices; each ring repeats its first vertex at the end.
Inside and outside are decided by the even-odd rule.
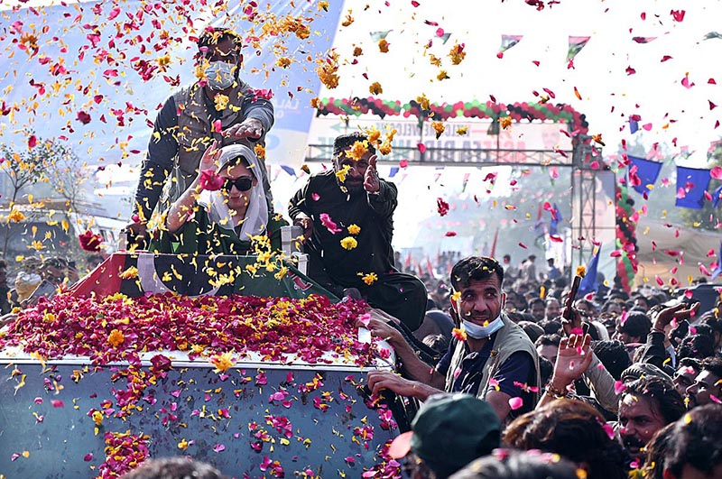
MULTIPOLYGON (((369 387, 424 401, 412 427, 417 446, 403 454, 410 477, 516 477, 506 470, 486 475, 481 465, 520 450, 536 451, 534 460, 557 457, 560 465, 548 465, 555 472, 540 477, 564 477, 566 461, 582 471, 578 477, 722 476, 722 448, 695 446, 722 438, 719 295, 708 310, 672 290, 650 288, 631 294, 604 288, 569 303, 563 277, 525 276, 504 263, 466 258, 449 281, 427 282, 429 310, 412 338, 389 322, 369 324, 394 346, 401 373, 369 373, 369 387), (514 330, 523 337, 510 336, 514 330), (450 452, 462 450, 459 441, 476 440, 464 421, 481 433, 492 423, 488 417, 464 413, 456 425, 443 423, 458 431, 457 442, 422 428, 435 401, 455 397, 459 404, 484 400, 477 413, 492 410, 499 421, 494 447, 513 451, 450 452), (453 470, 440 459, 456 461, 453 470)), ((496 467, 491 470, 501 470, 496 467)))

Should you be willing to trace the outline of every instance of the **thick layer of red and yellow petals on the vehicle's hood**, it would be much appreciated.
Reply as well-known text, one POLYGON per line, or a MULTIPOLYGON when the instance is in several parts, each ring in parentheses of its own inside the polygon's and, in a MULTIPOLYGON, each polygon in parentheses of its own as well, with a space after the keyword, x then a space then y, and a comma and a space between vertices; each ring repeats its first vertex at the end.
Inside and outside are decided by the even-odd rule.
POLYGON ((269 361, 371 363, 370 345, 357 341, 363 301, 283 299, 171 293, 104 299, 60 294, 20 312, 0 335, 0 348, 20 346, 46 359, 88 356, 94 364, 139 364, 148 351, 186 351, 191 359, 255 352, 269 361))

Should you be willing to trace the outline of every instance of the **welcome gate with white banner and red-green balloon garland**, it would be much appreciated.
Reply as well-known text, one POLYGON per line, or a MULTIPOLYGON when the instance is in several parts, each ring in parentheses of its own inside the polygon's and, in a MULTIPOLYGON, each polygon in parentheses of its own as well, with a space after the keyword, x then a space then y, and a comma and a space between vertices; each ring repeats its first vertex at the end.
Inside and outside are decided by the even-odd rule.
POLYGON ((375 97, 319 101, 311 124, 305 161, 329 161, 338 134, 375 127, 397 130, 393 151, 380 163, 410 166, 528 166, 571 168, 572 271, 592 255, 591 239, 606 237, 616 249, 615 173, 606 169, 601 146, 589 135, 585 115, 568 105, 549 103, 496 104, 457 102, 421 109, 416 101, 405 105, 375 97), (511 128, 501 127, 505 117, 511 128), (443 122, 437 136, 433 121, 443 122), (561 124, 564 124, 563 126, 561 124), (422 146, 421 146, 422 145, 422 146), (585 238, 580 241, 579 238, 585 238))

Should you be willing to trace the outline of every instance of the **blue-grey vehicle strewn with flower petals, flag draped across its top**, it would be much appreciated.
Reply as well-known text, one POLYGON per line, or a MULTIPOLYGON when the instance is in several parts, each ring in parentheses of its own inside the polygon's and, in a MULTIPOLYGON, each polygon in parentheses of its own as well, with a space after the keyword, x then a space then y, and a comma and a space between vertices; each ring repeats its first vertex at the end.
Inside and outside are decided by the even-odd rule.
POLYGON ((0 476, 118 477, 192 456, 233 477, 394 477, 393 367, 329 296, 255 256, 116 253, 0 333, 0 476))

